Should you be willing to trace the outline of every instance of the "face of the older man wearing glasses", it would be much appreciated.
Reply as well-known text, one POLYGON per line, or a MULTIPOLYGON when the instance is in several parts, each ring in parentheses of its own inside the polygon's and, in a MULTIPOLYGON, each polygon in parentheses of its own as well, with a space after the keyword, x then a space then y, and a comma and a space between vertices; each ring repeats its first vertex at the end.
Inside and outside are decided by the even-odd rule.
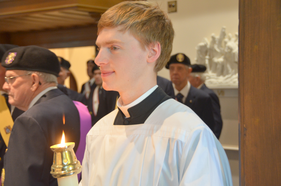
POLYGON ((22 70, 7 70, 6 77, 20 76, 10 79, 10 83, 4 83, 3 89, 7 91, 9 95, 9 103, 14 106, 27 106, 30 102, 32 91, 32 81, 30 75, 21 76, 26 74, 26 71, 22 70))

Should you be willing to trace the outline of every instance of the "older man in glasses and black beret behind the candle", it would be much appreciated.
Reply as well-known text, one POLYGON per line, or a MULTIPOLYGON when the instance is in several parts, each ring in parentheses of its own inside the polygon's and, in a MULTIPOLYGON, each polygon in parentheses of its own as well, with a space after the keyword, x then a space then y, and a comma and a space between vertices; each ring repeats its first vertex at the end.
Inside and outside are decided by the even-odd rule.
POLYGON ((78 110, 57 89, 57 56, 38 46, 17 47, 4 54, 1 65, 7 70, 3 89, 9 103, 25 111, 12 128, 4 158, 4 185, 57 185, 50 174, 50 146, 61 143, 63 131, 66 142, 75 142, 74 151, 80 140, 78 110))

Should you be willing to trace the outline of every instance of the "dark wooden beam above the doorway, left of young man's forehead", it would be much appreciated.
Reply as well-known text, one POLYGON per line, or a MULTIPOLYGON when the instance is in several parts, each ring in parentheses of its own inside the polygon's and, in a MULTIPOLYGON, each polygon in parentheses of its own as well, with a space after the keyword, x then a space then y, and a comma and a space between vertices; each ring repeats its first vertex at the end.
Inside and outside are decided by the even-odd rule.
POLYGON ((93 46, 97 38, 96 25, 59 30, 10 33, 10 44, 37 45, 46 48, 93 46))

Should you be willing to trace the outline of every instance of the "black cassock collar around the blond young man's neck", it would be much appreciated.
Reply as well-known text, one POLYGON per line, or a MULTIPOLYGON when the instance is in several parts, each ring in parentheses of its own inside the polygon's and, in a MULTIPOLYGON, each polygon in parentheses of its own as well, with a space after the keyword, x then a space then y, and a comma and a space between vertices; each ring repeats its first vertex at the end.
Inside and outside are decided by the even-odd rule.
POLYGON ((164 101, 172 99, 159 86, 144 100, 128 109, 131 117, 126 118, 118 108, 118 113, 113 125, 137 125, 143 124, 150 114, 164 101))

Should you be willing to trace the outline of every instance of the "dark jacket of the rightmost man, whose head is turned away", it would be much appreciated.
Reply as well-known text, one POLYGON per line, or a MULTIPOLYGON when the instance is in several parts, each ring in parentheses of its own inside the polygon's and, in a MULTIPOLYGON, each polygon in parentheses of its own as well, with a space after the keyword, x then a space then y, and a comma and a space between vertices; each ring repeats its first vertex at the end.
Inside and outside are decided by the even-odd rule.
POLYGON ((214 126, 214 135, 219 139, 221 130, 222 130, 222 119, 220 115, 220 105, 219 105, 219 98, 218 96, 214 93, 213 90, 209 89, 205 83, 203 86, 200 88, 202 91, 206 92, 211 100, 212 100, 212 106, 213 106, 213 115, 214 115, 214 121, 215 121, 215 126, 214 126))

